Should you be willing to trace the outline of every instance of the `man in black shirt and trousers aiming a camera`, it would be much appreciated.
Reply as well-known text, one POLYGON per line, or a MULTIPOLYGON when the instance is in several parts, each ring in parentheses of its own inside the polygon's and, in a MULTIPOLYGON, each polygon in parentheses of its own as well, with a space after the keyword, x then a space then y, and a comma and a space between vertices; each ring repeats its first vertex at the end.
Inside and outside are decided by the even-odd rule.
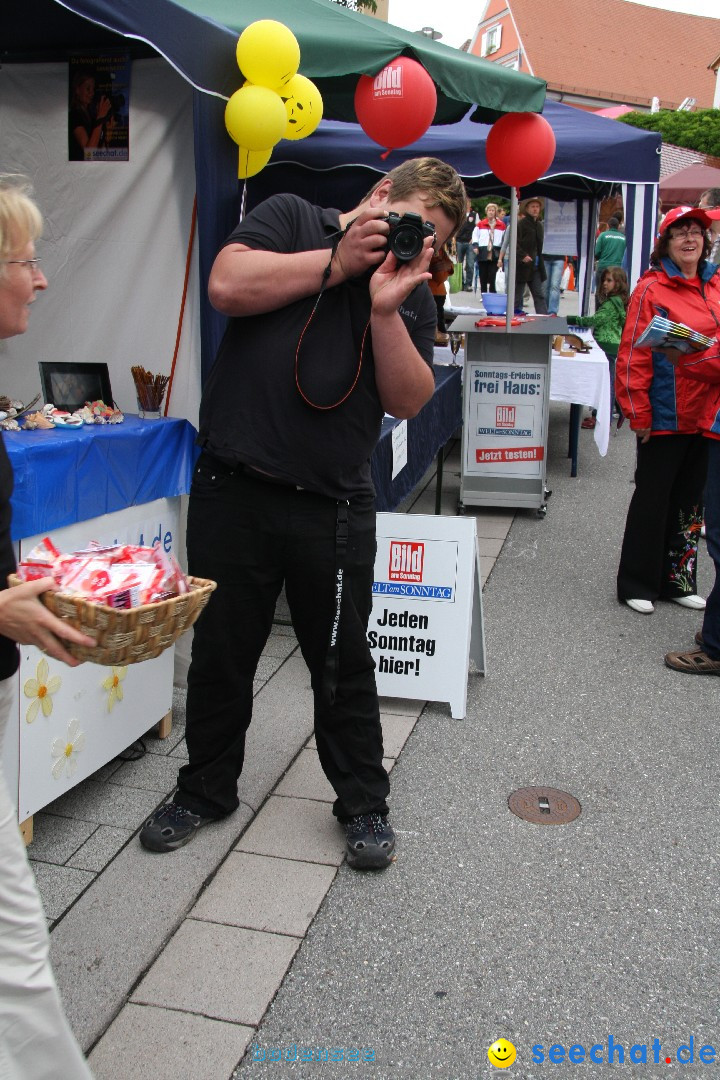
POLYGON ((215 259, 209 297, 230 318, 200 407, 187 535, 190 573, 217 589, 194 627, 189 760, 172 801, 140 831, 151 851, 175 851, 240 806, 254 678, 284 584, 349 865, 393 861, 367 640, 370 457, 385 411, 413 417, 433 395, 430 260, 462 225, 466 201, 450 165, 416 158, 351 212, 294 194, 266 199, 215 259), (390 212, 435 230, 416 230, 407 261, 388 247, 390 212))

